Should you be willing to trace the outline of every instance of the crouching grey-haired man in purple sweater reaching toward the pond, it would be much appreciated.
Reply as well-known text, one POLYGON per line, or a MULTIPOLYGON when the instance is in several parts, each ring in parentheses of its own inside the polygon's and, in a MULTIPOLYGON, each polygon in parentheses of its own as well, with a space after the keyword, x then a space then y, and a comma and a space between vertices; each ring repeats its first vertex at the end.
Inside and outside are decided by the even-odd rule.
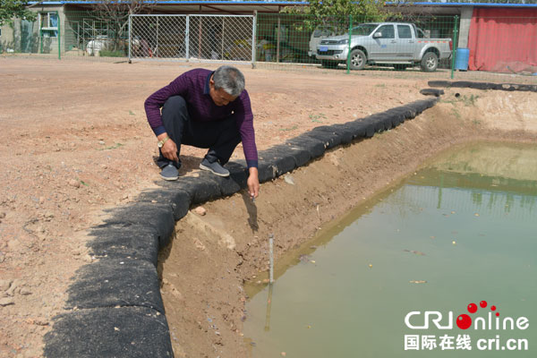
POLYGON ((250 97, 244 90, 242 72, 233 66, 221 66, 215 72, 184 72, 149 96, 145 110, 157 136, 158 166, 163 179, 178 178, 182 144, 209 149, 200 169, 228 176, 224 166, 242 141, 249 171, 248 192, 251 198, 257 198, 258 155, 250 97))

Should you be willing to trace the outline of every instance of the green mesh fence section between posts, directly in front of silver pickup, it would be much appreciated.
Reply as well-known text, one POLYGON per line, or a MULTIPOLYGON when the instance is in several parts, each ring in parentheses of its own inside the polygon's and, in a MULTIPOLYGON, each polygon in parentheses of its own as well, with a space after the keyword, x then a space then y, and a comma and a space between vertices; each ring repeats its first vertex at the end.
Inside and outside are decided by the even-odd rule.
POLYGON ((319 64, 328 68, 345 69, 362 69, 365 64, 374 64, 377 69, 382 69, 393 68, 393 63, 388 66, 393 57, 399 63, 397 69, 404 69, 415 64, 415 60, 421 55, 419 50, 423 46, 418 45, 419 41, 422 44, 434 40, 437 45, 431 48, 439 48, 439 68, 450 68, 449 56, 458 21, 456 16, 422 16, 419 21, 413 20, 415 26, 387 25, 376 30, 381 33, 379 38, 371 38, 371 31, 375 26, 363 26, 364 23, 373 21, 376 19, 353 19, 352 16, 317 18, 290 14, 259 14, 257 61, 319 64), (365 38, 358 40, 364 35, 370 36, 368 42, 365 38), (355 49, 362 51, 362 58, 356 57, 357 52, 353 52, 355 49))

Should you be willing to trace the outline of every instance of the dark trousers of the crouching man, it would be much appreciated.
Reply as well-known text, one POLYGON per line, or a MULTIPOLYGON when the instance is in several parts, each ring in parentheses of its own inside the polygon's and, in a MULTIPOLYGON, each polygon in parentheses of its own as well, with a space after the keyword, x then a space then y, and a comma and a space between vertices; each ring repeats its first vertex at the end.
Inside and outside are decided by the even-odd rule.
MULTIPOLYGON (((170 97, 166 100, 162 108, 162 122, 168 136, 177 145, 177 158, 179 158, 181 144, 186 144, 197 148, 209 148, 205 156, 209 163, 218 160, 221 165, 225 165, 236 146, 241 142, 241 133, 233 115, 223 121, 192 121, 188 114, 186 102, 181 96, 170 97)), ((181 159, 175 163, 165 158, 162 151, 158 151, 160 154, 157 161, 159 167, 168 164, 176 167, 181 166, 181 159)))

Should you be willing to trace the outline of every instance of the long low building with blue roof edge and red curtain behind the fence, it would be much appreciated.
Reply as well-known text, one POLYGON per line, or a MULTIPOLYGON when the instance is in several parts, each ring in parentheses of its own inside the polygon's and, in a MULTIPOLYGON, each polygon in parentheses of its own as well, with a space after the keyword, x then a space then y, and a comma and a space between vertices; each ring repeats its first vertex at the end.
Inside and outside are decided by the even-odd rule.
MULTIPOLYGON (((4 26, 0 33, 0 46, 8 52, 47 54, 56 51, 58 55, 75 52, 80 55, 89 55, 87 48, 90 41, 93 41, 94 45, 103 45, 107 38, 115 36, 122 38, 126 43, 125 34, 111 35, 111 32, 117 32, 117 30, 111 29, 107 21, 99 20, 95 16, 94 4, 96 2, 90 0, 31 2, 30 9, 38 13, 38 21, 17 20, 12 26, 4 26)), ((295 18, 280 14, 286 6, 307 6, 307 1, 169 0, 151 2, 151 4, 153 4, 150 9, 152 14, 253 15, 256 13, 258 21, 255 40, 268 43, 264 45, 268 47, 264 48, 268 50, 266 51, 268 55, 261 60, 272 61, 276 58, 277 62, 315 62, 314 57, 308 58, 305 55, 309 50, 313 30, 302 29, 303 32, 300 32, 300 26, 295 23, 295 18), (277 37, 276 28, 286 31, 283 39, 277 37), (270 47, 276 47, 276 49, 272 51, 270 47), (275 53, 271 54, 271 51, 275 53)), ((418 13, 422 18, 428 18, 427 26, 430 27, 431 38, 453 38, 453 30, 457 28, 454 42, 457 47, 469 47, 470 69, 472 70, 503 72, 509 64, 513 67, 517 62, 524 62, 524 65, 537 65, 534 63, 537 61, 537 54, 534 53, 537 49, 533 50, 534 45, 524 39, 533 38, 532 31, 537 31, 537 0, 429 0, 416 1, 404 6, 400 3, 388 2, 387 6, 397 6, 397 10, 402 13, 418 13), (525 22, 523 28, 520 27, 521 21, 525 22), (494 28, 492 26, 494 23, 501 24, 501 26, 494 28), (476 38, 473 36, 476 31, 471 29, 478 28, 482 35, 476 38), (502 34, 501 43, 497 39, 490 38, 491 36, 498 38, 498 35, 493 35, 498 33, 498 30, 501 30, 502 34), (524 31, 529 35, 521 38, 520 35, 525 33, 524 31), (485 37, 484 34, 488 35, 485 37), (517 46, 513 45, 514 43, 517 46), (521 51, 521 48, 526 50, 521 51), (493 49, 496 55, 490 55, 493 49)), ((209 36, 210 41, 210 38, 214 40, 217 36, 215 29, 221 25, 209 27, 211 28, 209 32, 213 33, 204 33, 203 36, 209 36)), ((240 38, 234 39, 235 42, 251 42, 247 31, 243 32, 240 38)), ((171 36, 172 34, 169 37, 171 36)), ((215 52, 215 49, 211 48, 210 51, 215 52)), ((209 58, 213 57, 215 57, 214 54, 209 58)), ((232 58, 238 57, 232 56, 232 58)), ((221 54, 217 58, 223 59, 224 56, 221 54)))

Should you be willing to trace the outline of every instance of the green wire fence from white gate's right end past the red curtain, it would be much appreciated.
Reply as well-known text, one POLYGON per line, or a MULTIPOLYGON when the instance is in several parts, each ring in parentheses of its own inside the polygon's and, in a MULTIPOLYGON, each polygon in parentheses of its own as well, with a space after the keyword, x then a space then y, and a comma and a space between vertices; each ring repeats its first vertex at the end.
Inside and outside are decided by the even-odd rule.
POLYGON ((367 17, 260 13, 256 20, 256 62, 268 68, 303 64, 397 77, 434 71, 452 79, 537 81, 536 17, 409 13, 379 28, 367 25, 377 21, 367 17))

